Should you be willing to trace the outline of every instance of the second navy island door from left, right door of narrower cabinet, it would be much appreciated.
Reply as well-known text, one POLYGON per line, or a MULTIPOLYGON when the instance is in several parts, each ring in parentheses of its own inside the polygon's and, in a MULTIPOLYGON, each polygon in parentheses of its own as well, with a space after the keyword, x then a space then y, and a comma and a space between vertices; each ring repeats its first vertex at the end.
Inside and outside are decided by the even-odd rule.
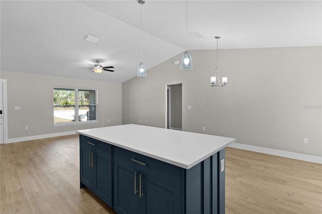
POLYGON ((94 193, 112 206, 112 156, 94 152, 94 193))

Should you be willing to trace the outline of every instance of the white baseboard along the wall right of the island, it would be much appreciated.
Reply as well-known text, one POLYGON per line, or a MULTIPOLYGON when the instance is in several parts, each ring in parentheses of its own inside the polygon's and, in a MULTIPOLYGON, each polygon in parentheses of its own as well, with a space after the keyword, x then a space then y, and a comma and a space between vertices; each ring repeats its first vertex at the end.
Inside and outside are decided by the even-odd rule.
POLYGON ((229 145, 229 147, 322 164, 322 157, 318 156, 304 155, 295 152, 286 152, 282 150, 268 149, 264 147, 251 146, 239 143, 232 143, 229 145))

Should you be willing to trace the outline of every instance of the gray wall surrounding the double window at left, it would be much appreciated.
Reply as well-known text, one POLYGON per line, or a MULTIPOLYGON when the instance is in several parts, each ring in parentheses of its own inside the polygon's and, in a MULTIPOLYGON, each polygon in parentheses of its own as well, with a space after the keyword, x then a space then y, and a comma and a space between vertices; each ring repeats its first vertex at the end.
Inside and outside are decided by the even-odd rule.
POLYGON ((120 125, 122 123, 121 83, 1 71, 7 79, 8 138, 120 125), (53 126, 53 87, 98 89, 98 123, 53 126), (20 106, 16 111, 15 106, 20 106), (110 119, 110 122, 108 122, 110 119), (29 130, 25 130, 29 126, 29 130))

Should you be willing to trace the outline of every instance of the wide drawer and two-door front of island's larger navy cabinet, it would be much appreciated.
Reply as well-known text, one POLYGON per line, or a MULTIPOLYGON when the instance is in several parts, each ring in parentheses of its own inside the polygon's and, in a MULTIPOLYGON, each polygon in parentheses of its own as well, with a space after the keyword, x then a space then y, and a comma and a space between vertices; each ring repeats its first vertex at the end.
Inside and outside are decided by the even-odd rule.
POLYGON ((182 182, 180 167, 114 149, 114 209, 118 213, 183 213, 182 182))

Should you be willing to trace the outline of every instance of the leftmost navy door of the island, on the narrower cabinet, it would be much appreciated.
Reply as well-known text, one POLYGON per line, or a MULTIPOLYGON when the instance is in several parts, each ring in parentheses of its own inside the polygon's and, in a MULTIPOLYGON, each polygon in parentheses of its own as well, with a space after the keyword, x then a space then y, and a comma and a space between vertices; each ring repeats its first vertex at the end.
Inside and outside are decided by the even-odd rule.
POLYGON ((91 190, 94 188, 94 168, 91 165, 92 154, 93 150, 81 142, 79 146, 81 188, 83 187, 82 184, 84 184, 91 190))

